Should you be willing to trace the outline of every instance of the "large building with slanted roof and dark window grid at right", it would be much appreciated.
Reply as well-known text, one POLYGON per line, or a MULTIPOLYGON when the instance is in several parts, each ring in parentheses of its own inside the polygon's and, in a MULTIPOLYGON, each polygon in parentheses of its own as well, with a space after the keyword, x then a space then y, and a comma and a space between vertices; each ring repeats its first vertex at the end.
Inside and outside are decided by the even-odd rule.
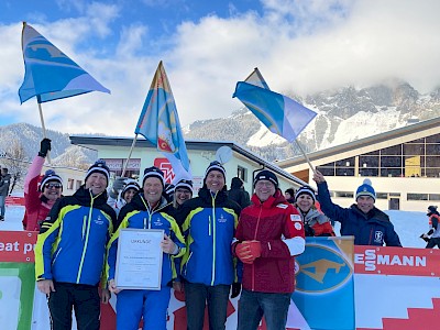
MULTIPOLYGON (((307 155, 329 184, 336 204, 354 202, 356 188, 369 178, 381 209, 426 211, 440 206, 440 119, 414 123, 307 155)), ((304 156, 276 163, 312 186, 304 156)))

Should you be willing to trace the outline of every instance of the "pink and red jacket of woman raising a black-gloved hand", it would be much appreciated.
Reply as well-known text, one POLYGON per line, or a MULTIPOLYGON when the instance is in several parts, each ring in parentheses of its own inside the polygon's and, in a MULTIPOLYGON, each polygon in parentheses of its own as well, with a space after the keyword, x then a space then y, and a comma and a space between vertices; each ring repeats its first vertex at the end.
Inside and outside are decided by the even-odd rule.
POLYGON ((55 201, 48 200, 38 191, 41 170, 43 169, 44 157, 35 156, 28 169, 24 179, 24 217, 23 229, 30 231, 40 231, 40 226, 48 216, 55 201))

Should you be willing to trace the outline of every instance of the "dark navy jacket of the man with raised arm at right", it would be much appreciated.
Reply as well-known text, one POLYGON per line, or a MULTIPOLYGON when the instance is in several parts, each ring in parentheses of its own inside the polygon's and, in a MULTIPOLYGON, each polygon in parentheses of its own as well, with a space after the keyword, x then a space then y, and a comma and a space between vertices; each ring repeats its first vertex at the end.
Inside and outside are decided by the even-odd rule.
POLYGON ((354 235, 355 245, 402 246, 389 217, 380 209, 364 213, 355 204, 350 208, 333 204, 327 182, 318 184, 318 199, 323 213, 341 222, 341 235, 354 235))

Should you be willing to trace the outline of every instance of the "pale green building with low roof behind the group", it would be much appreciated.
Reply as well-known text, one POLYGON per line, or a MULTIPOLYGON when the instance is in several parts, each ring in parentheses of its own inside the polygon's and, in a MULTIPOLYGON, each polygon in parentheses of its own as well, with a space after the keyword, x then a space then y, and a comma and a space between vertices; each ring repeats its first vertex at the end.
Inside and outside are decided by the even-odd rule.
MULTIPOLYGON (((73 144, 96 150, 98 157, 106 160, 112 176, 120 176, 125 166, 133 139, 109 136, 70 136, 73 144)), ((264 161, 254 153, 233 142, 186 141, 188 158, 193 172, 195 189, 202 186, 205 170, 209 163, 221 157, 227 170, 227 185, 230 186, 234 176, 244 182, 244 188, 251 194, 252 182, 257 170, 267 168, 277 174, 279 188, 284 191, 289 187, 297 188, 305 183, 294 175, 283 170, 277 165, 264 161)), ((136 140, 130 161, 125 168, 125 177, 142 177, 143 169, 150 166, 161 168, 168 183, 174 179, 174 172, 166 157, 147 140, 136 140)))

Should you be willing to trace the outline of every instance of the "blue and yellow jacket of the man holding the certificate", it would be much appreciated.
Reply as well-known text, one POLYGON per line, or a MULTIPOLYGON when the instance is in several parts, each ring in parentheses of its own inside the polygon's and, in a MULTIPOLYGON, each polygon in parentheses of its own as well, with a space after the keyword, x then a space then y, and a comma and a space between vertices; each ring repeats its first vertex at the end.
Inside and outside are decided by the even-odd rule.
POLYGON ((179 248, 179 252, 175 255, 163 253, 162 286, 170 285, 172 280, 177 277, 175 260, 184 255, 186 251, 184 237, 173 216, 174 208, 164 197, 162 197, 156 208, 150 210, 143 193, 135 195, 132 201, 121 209, 118 217, 118 222, 121 222, 121 224, 108 244, 107 279, 110 280, 114 278, 118 239, 121 229, 163 229, 164 233, 179 248))

